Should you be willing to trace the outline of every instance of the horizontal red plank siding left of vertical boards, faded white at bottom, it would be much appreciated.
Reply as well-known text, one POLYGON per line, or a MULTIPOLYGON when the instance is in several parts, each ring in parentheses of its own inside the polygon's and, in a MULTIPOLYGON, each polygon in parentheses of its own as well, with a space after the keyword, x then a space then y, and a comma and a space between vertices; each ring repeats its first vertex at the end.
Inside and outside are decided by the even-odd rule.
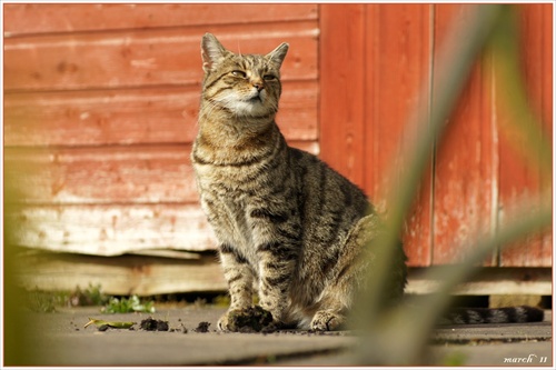
POLYGON ((22 244, 215 248, 189 161, 207 31, 244 53, 288 40, 280 127, 318 152, 317 4, 6 4, 4 20, 4 153, 27 190, 22 244))

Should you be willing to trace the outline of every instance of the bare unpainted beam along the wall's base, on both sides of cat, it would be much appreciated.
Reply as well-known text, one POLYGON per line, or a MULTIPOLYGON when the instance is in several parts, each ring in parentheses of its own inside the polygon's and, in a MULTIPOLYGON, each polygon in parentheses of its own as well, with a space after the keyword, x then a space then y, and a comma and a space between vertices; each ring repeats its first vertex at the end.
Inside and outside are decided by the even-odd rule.
MULTIPOLYGON (((31 252, 19 258, 19 282, 28 289, 72 291, 100 284, 107 294, 153 296, 181 292, 222 292, 226 281, 216 256, 185 253, 180 258, 145 256, 95 257, 31 252)), ((443 267, 446 268, 446 267, 443 267)), ((428 294, 437 281, 425 279, 431 268, 410 269, 408 294, 428 294)), ((449 267, 448 267, 449 269, 449 267)), ((448 271, 448 270, 447 270, 448 271)), ((552 270, 486 268, 455 296, 552 296, 552 270)))

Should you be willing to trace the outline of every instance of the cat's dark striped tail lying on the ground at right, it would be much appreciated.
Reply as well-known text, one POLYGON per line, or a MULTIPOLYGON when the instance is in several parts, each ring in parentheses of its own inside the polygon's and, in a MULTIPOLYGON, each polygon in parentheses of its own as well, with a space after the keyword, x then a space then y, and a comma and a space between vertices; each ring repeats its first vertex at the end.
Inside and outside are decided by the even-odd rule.
POLYGON ((504 308, 457 308, 451 309, 439 321, 439 324, 469 323, 507 323, 543 321, 545 312, 542 309, 518 306, 504 308))

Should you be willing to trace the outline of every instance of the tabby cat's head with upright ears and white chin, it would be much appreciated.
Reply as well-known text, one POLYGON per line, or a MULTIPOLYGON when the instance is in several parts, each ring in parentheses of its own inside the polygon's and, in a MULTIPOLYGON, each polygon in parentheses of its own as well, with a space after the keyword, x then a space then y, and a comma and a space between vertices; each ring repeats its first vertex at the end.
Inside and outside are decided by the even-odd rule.
POLYGON ((211 33, 201 41, 202 99, 236 117, 276 114, 281 93, 280 67, 288 52, 281 43, 266 56, 236 54, 211 33))

